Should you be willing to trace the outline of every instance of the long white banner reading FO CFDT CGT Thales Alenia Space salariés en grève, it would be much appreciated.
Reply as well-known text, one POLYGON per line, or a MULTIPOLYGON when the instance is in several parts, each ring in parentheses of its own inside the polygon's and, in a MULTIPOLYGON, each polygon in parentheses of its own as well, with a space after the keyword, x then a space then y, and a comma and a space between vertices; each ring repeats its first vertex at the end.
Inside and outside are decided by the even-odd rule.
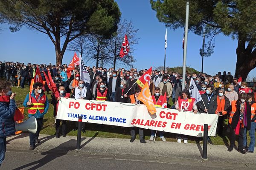
POLYGON ((157 117, 151 119, 145 105, 119 102, 99 102, 83 99, 61 98, 56 119, 114 125, 141 127, 190 136, 203 136, 204 124, 208 124, 208 135, 215 136, 218 115, 156 108, 157 117))

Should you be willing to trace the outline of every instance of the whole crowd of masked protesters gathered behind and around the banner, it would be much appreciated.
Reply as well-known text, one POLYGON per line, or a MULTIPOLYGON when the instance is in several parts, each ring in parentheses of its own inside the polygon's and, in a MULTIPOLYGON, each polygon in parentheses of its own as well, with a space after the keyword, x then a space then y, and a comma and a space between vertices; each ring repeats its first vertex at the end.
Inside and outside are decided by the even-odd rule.
MULTIPOLYGON (((45 81, 45 73, 50 72, 58 88, 59 96, 52 93, 51 104, 54 105, 53 115, 56 116, 58 110, 58 101, 61 97, 75 99, 90 99, 98 101, 125 102, 143 104, 137 97, 140 94, 140 88, 136 83, 145 70, 125 70, 125 68, 103 68, 103 67, 86 67, 90 74, 90 83, 80 80, 79 65, 71 72, 71 76, 67 74, 67 64, 52 65, 31 64, 20 62, 0 62, 0 77, 4 78, 0 83, 0 121, 10 122, 13 110, 14 95, 11 92, 12 87, 24 88, 26 82, 30 85, 31 79, 35 77, 37 67, 40 69, 42 79, 45 81), (48 70, 48 71, 47 71, 48 70), (6 96, 9 96, 6 98, 6 96), (6 117, 5 109, 8 109, 9 115, 6 117)), ((48 75, 48 74, 46 74, 48 75)), ((255 144, 256 130, 256 103, 255 92, 247 86, 246 82, 238 83, 239 77, 233 77, 230 72, 218 72, 216 75, 208 75, 205 73, 188 73, 186 71, 186 79, 182 78, 182 74, 171 71, 152 70, 150 91, 156 107, 161 107, 160 101, 166 94, 168 108, 177 109, 178 111, 192 111, 194 113, 218 114, 217 134, 224 137, 223 123, 224 119, 228 119, 227 132, 230 133, 230 147, 228 151, 232 151, 235 142, 235 135, 239 135, 239 152, 253 153, 255 144), (190 96, 189 83, 191 79, 195 82, 202 101, 195 103, 195 99, 190 96), (182 89, 182 82, 185 81, 185 88, 182 89), (181 102, 189 102, 189 106, 181 105, 181 102), (250 135, 250 144, 247 144, 247 131, 250 135)), ((24 107, 28 107, 29 116, 35 116, 38 122, 38 130, 35 134, 30 133, 30 150, 35 148, 35 143, 40 142, 38 136, 43 125, 44 114, 47 113, 49 102, 44 94, 50 93, 47 85, 40 82, 34 83, 32 93, 26 96, 23 102, 24 107), (45 90, 42 90, 45 89, 45 90)), ((7 129, 9 133, 3 133, 6 130, 5 125, 0 122, 0 144, 6 141, 6 135, 13 133, 13 129, 7 129)), ((56 138, 61 135, 66 136, 66 121, 55 119, 56 138), (62 126, 60 126, 60 122, 62 126)), ((74 129, 77 130, 77 127, 74 129)), ((82 125, 82 131, 85 132, 85 123, 82 125)), ((164 133, 160 132, 160 138, 166 141, 164 133)), ((140 142, 146 143, 144 139, 143 129, 139 128, 140 142)), ((155 131, 151 130, 149 140, 154 140, 155 131)), ((135 129, 131 128, 131 140, 134 142, 135 129)), ((187 144, 187 136, 177 135, 177 142, 181 143, 183 139, 187 144)), ((210 137, 209 144, 213 144, 210 137)), ((6 144, 5 144, 6 145, 6 144)), ((2 152, 2 146, 1 146, 2 152)))

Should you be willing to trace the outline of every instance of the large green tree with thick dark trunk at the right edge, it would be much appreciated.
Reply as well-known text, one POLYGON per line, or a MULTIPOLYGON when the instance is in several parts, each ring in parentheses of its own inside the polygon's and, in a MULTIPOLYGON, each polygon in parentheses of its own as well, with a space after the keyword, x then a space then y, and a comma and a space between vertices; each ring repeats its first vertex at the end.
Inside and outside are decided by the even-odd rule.
MULTIPOLYGON (((150 0, 157 18, 167 27, 184 27, 186 0, 150 0)), ((236 73, 246 79, 256 67, 256 1, 255 0, 189 0, 189 31, 206 36, 219 33, 238 40, 236 73)))

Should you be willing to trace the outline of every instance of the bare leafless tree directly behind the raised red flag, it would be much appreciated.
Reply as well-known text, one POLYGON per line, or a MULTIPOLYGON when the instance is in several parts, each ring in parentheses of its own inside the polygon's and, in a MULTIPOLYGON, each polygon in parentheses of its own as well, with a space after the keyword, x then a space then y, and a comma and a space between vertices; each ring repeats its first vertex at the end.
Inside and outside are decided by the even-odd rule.
POLYGON ((135 46, 139 43, 140 37, 137 37, 138 29, 135 29, 132 21, 121 20, 118 24, 117 31, 108 41, 108 51, 110 52, 111 58, 113 59, 113 68, 116 69, 116 63, 119 61, 122 64, 132 66, 135 61, 132 56, 135 46), (122 42, 124 40, 125 34, 127 35, 130 51, 125 57, 119 57, 119 52, 121 50, 122 42))

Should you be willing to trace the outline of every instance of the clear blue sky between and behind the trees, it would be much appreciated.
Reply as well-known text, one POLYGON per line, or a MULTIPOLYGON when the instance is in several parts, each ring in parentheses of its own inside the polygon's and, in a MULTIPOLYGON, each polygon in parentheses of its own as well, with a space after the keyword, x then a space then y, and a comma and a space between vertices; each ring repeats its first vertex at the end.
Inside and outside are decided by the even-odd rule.
MULTIPOLYGON (((116 0, 122 12, 122 18, 132 20, 134 28, 139 29, 139 44, 134 51, 137 60, 134 66, 139 69, 157 67, 164 62, 165 26, 157 20, 156 12, 151 9, 149 0, 116 0)), ((185 6, 185 4, 184 4, 185 6)), ((32 63, 55 63, 54 45, 46 34, 23 27, 12 33, 9 26, 0 32, 0 61, 19 61, 32 63)), ((166 49, 166 66, 181 66, 183 61, 182 38, 183 28, 172 30, 167 28, 168 47, 166 49)), ((207 39, 206 39, 207 42, 207 39)), ((189 32, 186 65, 201 71, 202 37, 189 32)), ((211 57, 204 58, 204 72, 216 74, 218 71, 235 73, 237 40, 222 34, 215 38, 215 49, 211 57)), ((72 51, 64 54, 64 63, 69 63, 72 51)), ((256 69, 249 77, 256 75, 256 69)))

